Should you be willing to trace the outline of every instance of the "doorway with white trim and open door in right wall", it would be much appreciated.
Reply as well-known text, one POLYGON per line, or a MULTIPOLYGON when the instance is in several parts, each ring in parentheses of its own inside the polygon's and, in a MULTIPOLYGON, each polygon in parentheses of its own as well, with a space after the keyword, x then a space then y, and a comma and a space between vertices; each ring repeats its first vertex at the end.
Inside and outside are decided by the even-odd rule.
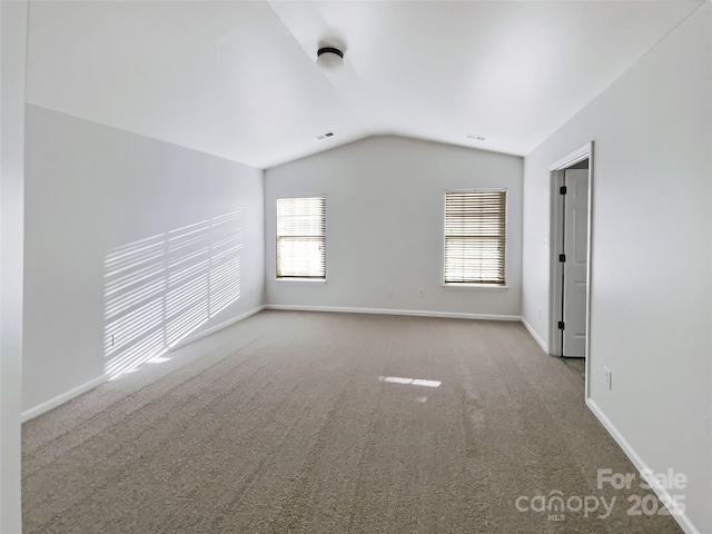
POLYGON ((582 368, 587 397, 593 142, 550 170, 550 353, 582 368))

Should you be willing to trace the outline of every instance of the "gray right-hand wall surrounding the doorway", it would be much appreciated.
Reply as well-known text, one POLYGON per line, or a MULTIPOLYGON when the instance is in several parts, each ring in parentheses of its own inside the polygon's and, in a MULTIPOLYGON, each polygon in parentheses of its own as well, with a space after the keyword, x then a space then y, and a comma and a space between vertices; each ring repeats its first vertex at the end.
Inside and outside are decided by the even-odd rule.
POLYGON ((712 532, 711 10, 524 165, 523 317, 547 339, 548 166, 595 141, 591 398, 642 464, 688 475, 672 493, 685 495, 699 532, 712 532))

